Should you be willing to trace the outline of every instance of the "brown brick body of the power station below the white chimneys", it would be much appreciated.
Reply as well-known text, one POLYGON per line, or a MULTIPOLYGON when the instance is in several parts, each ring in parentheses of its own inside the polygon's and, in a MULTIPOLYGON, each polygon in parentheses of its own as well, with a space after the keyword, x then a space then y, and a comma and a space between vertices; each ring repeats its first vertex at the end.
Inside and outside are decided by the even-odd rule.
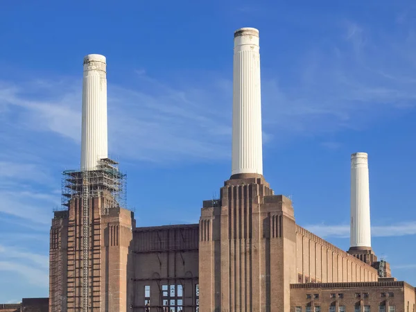
MULTIPOLYGON (((100 198, 90 207, 92 311, 355 312, 359 302, 361 312, 377 312, 387 300, 396 312, 416 312, 415 288, 380 279, 372 251, 345 252, 296 225, 291 200, 261 175, 227 180, 196 225, 136 228, 128 210, 103 212, 100 198)), ((50 312, 80 311, 80 233, 72 200, 51 227, 50 312)))

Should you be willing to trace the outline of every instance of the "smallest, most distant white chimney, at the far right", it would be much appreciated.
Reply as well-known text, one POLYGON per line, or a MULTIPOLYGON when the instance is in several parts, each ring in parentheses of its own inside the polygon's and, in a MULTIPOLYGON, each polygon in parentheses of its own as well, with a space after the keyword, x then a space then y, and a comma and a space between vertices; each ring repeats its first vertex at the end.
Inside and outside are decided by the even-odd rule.
POLYGON ((350 247, 371 249, 370 189, 367 153, 351 155, 351 241, 350 247))

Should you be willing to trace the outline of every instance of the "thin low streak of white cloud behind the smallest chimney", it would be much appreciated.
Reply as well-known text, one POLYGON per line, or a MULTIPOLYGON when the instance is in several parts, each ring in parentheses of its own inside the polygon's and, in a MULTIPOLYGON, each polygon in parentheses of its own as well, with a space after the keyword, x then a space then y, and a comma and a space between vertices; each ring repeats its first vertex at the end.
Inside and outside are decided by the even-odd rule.
MULTIPOLYGON (((322 238, 338 237, 349 238, 349 225, 306 225, 306 229, 322 238)), ((416 234, 416 221, 393 223, 390 225, 375 225, 371 227, 371 234, 374 237, 406 236, 416 234)))

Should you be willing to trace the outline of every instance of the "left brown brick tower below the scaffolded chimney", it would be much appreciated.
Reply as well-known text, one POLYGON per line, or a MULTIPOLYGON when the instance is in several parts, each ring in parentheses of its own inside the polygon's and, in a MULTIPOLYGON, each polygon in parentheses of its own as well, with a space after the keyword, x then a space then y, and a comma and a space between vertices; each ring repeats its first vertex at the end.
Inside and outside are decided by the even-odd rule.
MULTIPOLYGON (((126 311, 132 287, 131 211, 102 209, 105 196, 89 201, 90 306, 93 312, 126 311), (130 259, 130 261, 129 261, 130 259), (130 288, 129 288, 130 285, 130 288)), ((82 200, 73 198, 68 211, 56 211, 51 227, 49 312, 78 311, 82 303, 82 200)))

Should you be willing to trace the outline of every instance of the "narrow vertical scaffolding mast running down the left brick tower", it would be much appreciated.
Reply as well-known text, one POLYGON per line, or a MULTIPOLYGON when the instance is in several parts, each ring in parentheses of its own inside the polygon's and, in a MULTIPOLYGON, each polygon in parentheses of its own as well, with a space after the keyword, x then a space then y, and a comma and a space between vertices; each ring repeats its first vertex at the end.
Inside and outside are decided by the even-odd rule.
POLYGON ((83 312, 89 308, 89 172, 83 171, 83 312))

